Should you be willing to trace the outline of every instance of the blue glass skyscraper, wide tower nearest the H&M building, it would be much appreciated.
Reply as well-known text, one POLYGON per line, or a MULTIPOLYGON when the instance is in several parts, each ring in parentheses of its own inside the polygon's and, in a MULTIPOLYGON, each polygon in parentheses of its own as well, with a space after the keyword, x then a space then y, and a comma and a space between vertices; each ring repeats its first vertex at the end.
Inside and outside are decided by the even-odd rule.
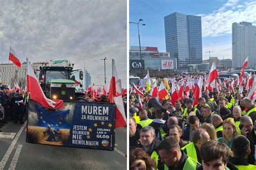
POLYGON ((164 17, 166 52, 177 58, 178 69, 202 63, 201 17, 174 12, 164 17))

